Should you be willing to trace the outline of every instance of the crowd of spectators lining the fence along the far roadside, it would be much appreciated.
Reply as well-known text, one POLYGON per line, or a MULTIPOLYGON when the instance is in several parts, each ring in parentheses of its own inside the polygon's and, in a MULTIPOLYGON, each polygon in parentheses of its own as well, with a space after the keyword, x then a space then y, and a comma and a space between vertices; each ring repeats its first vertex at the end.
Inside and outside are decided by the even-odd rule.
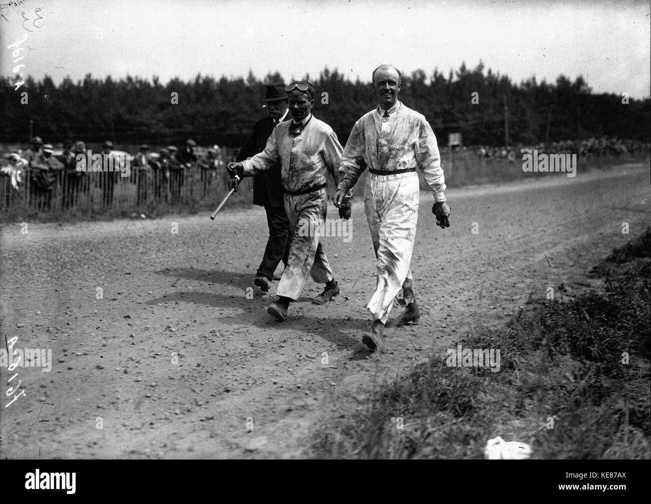
MULTIPOLYGON (((85 142, 64 142, 55 149, 53 144, 44 144, 40 137, 34 137, 27 150, 16 149, 5 153, 0 158, 0 175, 8 178, 12 190, 18 191, 29 181, 29 196, 38 202, 38 207, 51 207, 52 194, 58 188, 62 207, 76 206, 80 194, 90 191, 90 184, 85 182, 87 171, 79 170, 79 155, 89 151, 85 142)), ((515 163, 521 161, 526 153, 576 153, 583 159, 620 155, 637 155, 649 153, 651 144, 637 140, 618 139, 616 137, 590 138, 587 140, 564 140, 532 145, 515 146, 480 145, 477 148, 462 148, 475 152, 478 158, 515 163)), ((447 152, 442 148, 442 153, 447 152)), ((134 155, 117 151, 113 142, 107 140, 100 152, 102 160, 110 157, 124 163, 130 162, 130 182, 136 185, 135 203, 140 206, 149 200, 180 202, 184 184, 188 179, 196 178, 206 187, 212 185, 217 173, 225 176, 227 153, 219 146, 204 148, 188 139, 182 148, 170 145, 152 152, 148 144, 143 144, 134 155)), ((89 170, 90 171, 90 170, 89 170)), ((102 170, 94 176, 92 184, 102 193, 102 205, 111 207, 114 202, 115 186, 120 174, 118 170, 102 170)), ((4 183, 0 179, 1 183, 4 183)), ((5 198, 8 198, 5 191, 5 198)), ((8 200, 8 199, 7 199, 8 200)))

